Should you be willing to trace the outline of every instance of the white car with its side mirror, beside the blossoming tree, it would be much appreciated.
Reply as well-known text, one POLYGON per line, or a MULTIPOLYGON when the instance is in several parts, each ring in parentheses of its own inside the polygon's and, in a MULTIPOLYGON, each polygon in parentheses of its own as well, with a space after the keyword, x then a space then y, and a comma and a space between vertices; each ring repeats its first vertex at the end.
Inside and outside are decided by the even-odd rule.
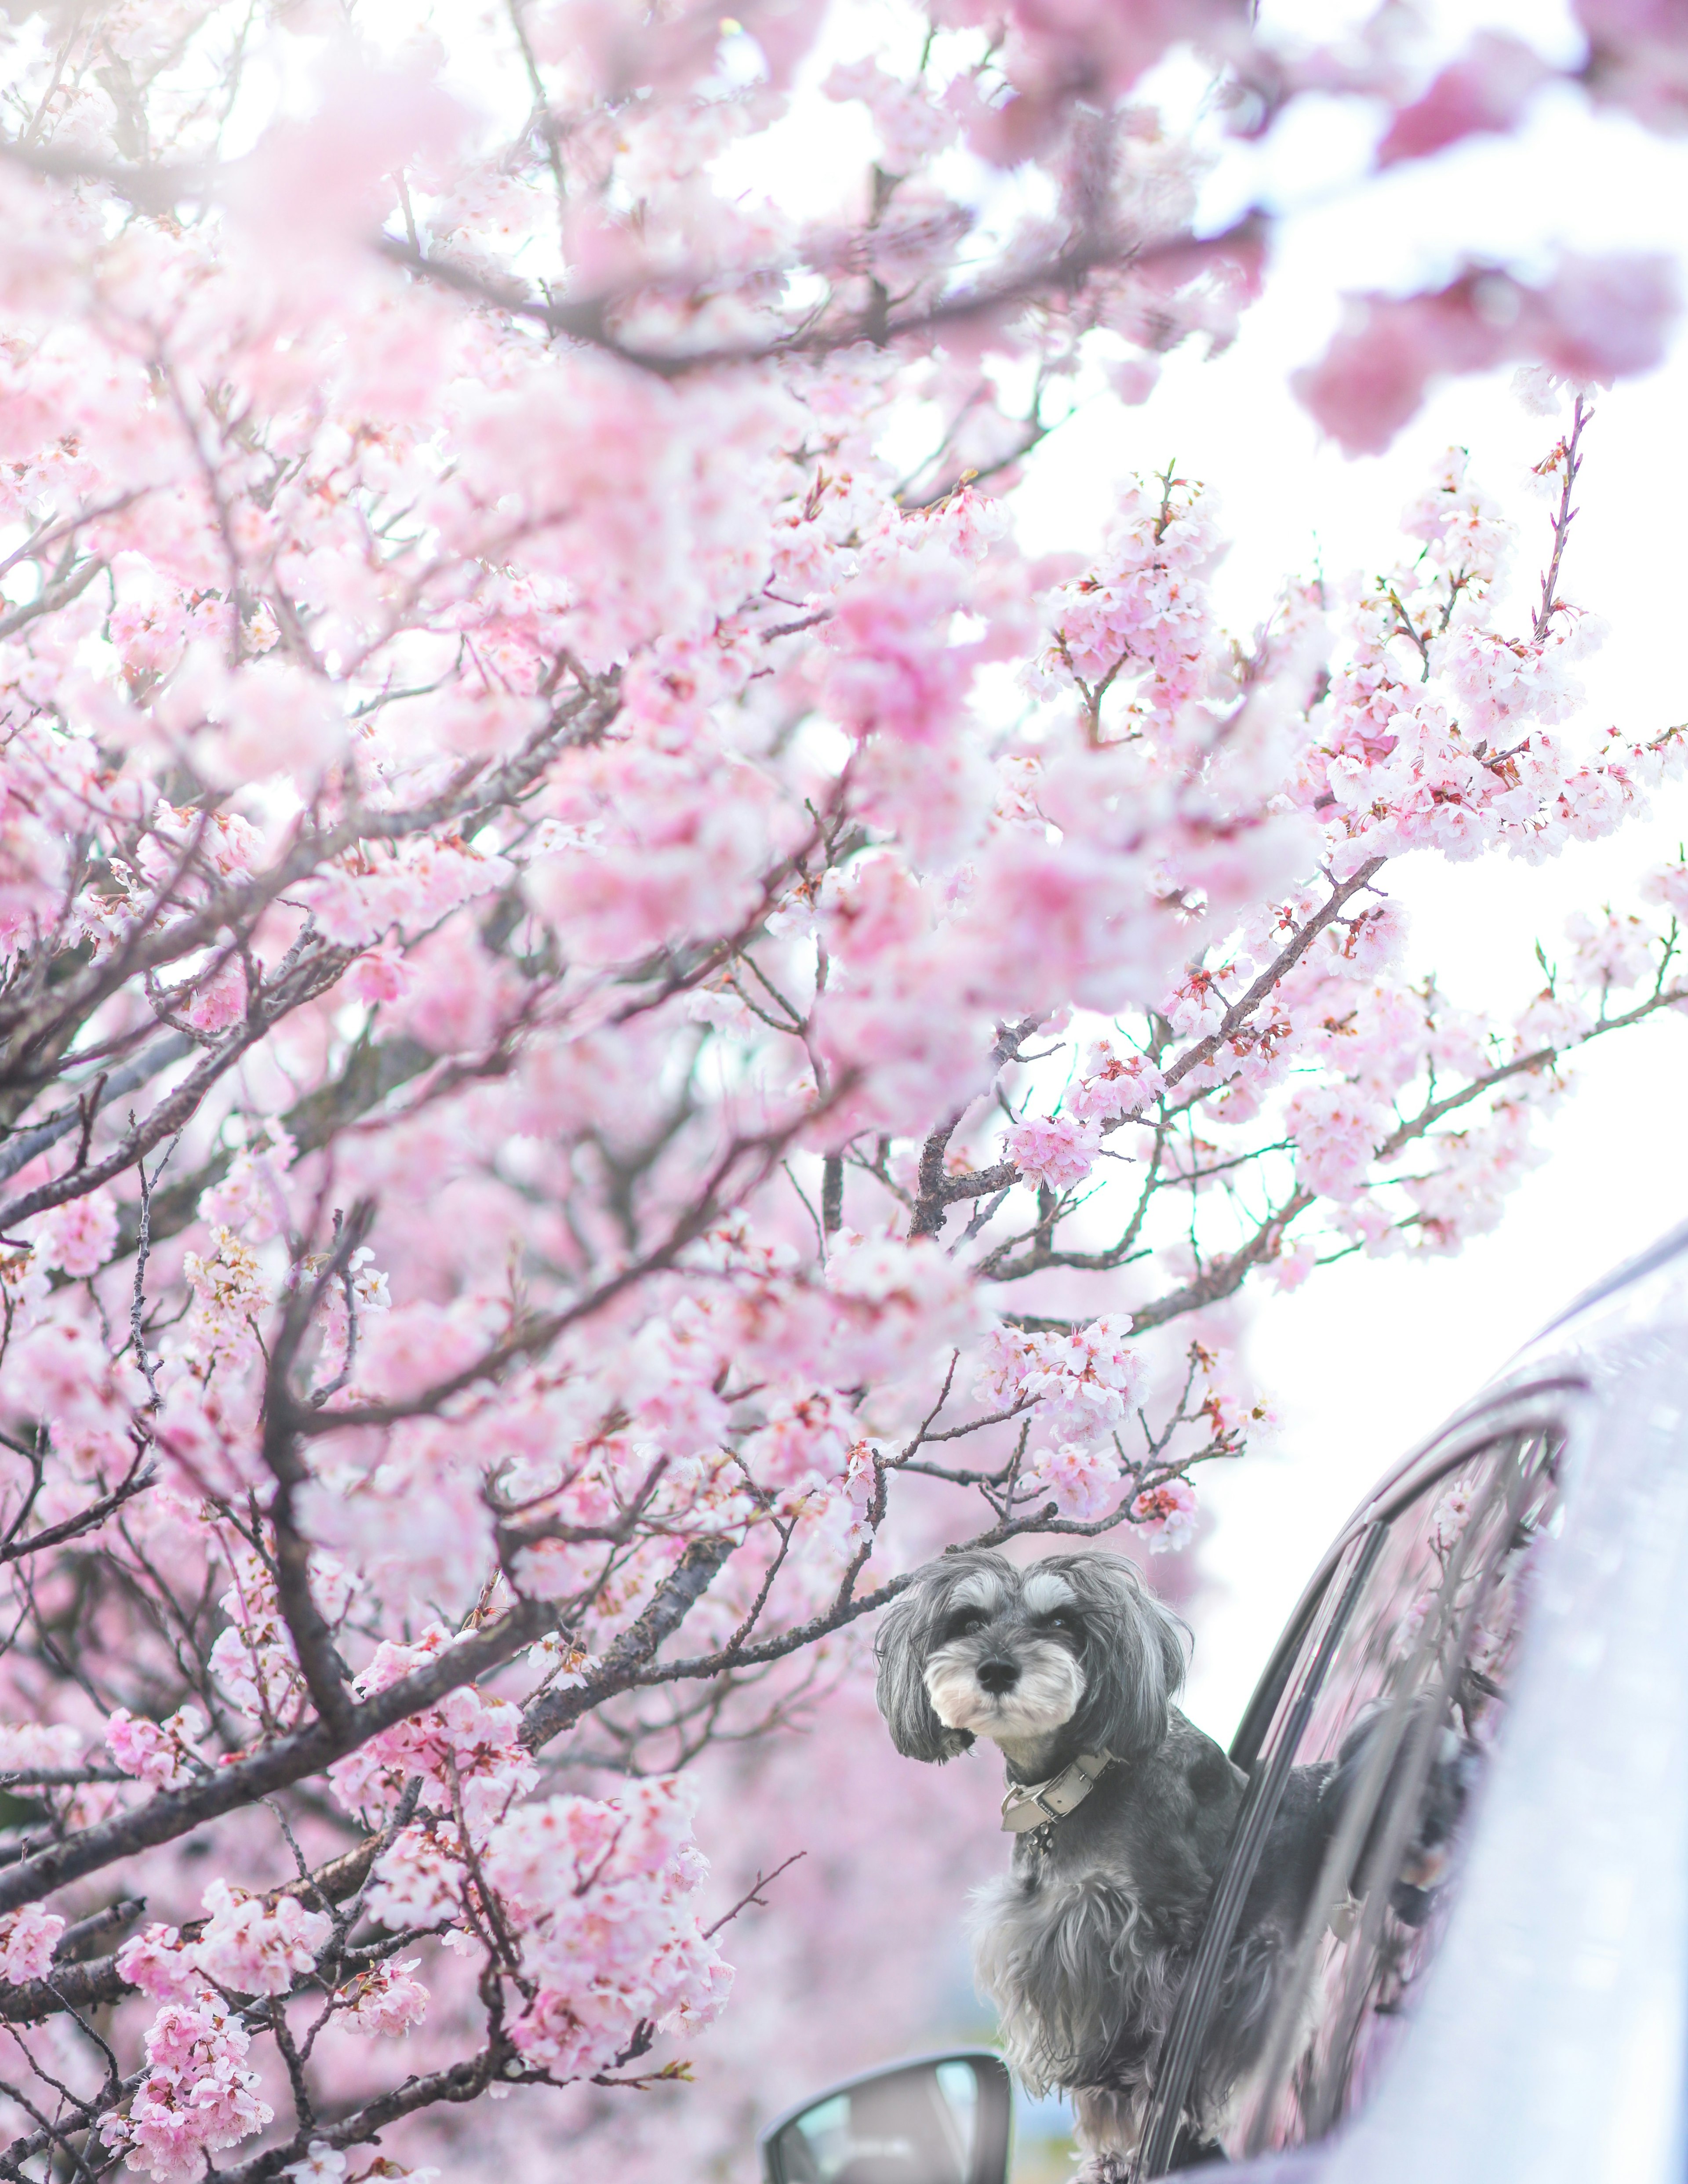
MULTIPOLYGON (((1184 2103, 1293 1767, 1352 1784, 1219 2149, 1238 2184, 1688 2175, 1688 1225, 1398 1463, 1232 1743, 1249 1787, 1162 2046, 1184 2103)), ((766 2184, 1005 2184, 1009 2079, 911 2057, 775 2118, 766 2184)))

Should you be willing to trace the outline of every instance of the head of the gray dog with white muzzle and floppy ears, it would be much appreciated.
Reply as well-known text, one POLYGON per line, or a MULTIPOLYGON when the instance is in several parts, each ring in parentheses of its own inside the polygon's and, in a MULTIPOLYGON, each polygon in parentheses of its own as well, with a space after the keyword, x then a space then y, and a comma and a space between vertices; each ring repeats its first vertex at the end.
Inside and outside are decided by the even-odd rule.
POLYGON ((876 1655, 880 1712, 913 1760, 1068 1725, 1081 1752, 1138 1758, 1166 1736, 1184 1625, 1120 1555, 1048 1555, 1029 1570, 946 1555, 889 1610, 876 1655))

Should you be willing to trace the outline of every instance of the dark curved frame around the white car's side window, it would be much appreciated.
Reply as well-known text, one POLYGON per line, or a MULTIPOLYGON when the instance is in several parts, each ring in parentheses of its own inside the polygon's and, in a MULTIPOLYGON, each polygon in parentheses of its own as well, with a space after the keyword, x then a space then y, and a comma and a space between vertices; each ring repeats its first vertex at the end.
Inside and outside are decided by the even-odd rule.
MULTIPOLYGON (((1354 1516, 1343 1524, 1330 1551, 1321 1557, 1312 1579, 1297 1601, 1282 1638, 1273 1647, 1267 1669, 1243 1710, 1236 1736, 1232 1738, 1232 1762, 1249 1776, 1243 1793, 1232 1841, 1225 1852, 1212 1907, 1203 1922, 1190 1968, 1173 2009, 1173 2020, 1162 2040, 1155 2066, 1155 2094, 1144 2116, 1138 2153, 1131 2167, 1131 2184, 1149 2184, 1168 2173, 1173 2149, 1184 2118, 1184 2103, 1190 2079, 1208 2035, 1212 2005, 1219 1992, 1219 1974, 1236 1933, 1249 1885, 1260 1863, 1267 1830, 1277 1813, 1284 1782, 1295 1756, 1301 1719, 1319 1697, 1330 1660, 1341 1642, 1347 1621, 1365 1590, 1365 1577, 1376 1564, 1391 1524, 1408 1509, 1426 1487, 1470 1463, 1496 1441, 1529 1435, 1553 1435, 1566 1455, 1574 1455, 1581 1441, 1581 1417, 1585 1411, 1588 1380, 1579 1374, 1553 1374, 1522 1387, 1489 1393, 1467 1404, 1441 1433, 1413 1450, 1389 1472, 1367 1496, 1354 1516), (1343 1599, 1332 1614, 1315 1662, 1308 1666, 1304 1686, 1295 1699, 1295 1712, 1284 1723, 1271 1762, 1260 1767, 1260 1749, 1273 1719, 1295 1675, 1297 1660, 1326 1605, 1330 1586, 1343 1577, 1343 1599)), ((1319 2140, 1308 2140, 1317 2145, 1319 2140)))

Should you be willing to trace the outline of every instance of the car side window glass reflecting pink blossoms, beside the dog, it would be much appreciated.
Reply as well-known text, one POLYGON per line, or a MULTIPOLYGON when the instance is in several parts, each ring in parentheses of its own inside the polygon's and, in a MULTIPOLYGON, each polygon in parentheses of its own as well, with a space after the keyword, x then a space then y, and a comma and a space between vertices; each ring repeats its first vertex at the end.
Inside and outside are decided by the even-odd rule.
POLYGON ((1253 1765, 1142 2173, 1170 2164, 1173 2101, 1203 2110, 1184 2147, 1208 2136, 1243 2158, 1317 2138, 1367 2097, 1448 1918, 1557 1524, 1557 1450, 1546 1433, 1487 1444, 1332 1570, 1253 1765))

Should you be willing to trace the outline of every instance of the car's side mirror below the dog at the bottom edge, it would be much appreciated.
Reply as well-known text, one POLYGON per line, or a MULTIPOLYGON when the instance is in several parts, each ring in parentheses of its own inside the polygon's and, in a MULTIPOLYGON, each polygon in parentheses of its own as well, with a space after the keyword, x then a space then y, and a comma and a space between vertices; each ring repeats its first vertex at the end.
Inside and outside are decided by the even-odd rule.
POLYGON ((764 2184, 1007 2184, 1000 2055, 961 2049, 847 2077, 762 2132, 764 2184))

